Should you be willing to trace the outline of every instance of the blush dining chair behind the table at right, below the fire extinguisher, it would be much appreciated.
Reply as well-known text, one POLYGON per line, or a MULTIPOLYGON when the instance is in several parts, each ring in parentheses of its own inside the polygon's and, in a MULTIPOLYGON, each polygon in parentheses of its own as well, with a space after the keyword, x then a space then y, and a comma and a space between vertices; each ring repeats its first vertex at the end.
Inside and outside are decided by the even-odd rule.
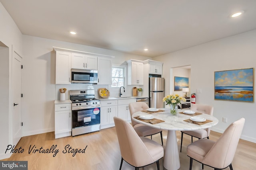
MULTIPOLYGON (((192 104, 190 107, 190 110, 199 112, 199 113, 206 113, 208 115, 213 114, 213 106, 209 106, 209 105, 192 104)), ((182 150, 183 133, 191 136, 191 143, 192 143, 193 137, 196 137, 198 139, 204 139, 204 138, 209 139, 210 131, 211 131, 210 128, 199 129, 194 131, 181 131, 180 152, 182 150)))

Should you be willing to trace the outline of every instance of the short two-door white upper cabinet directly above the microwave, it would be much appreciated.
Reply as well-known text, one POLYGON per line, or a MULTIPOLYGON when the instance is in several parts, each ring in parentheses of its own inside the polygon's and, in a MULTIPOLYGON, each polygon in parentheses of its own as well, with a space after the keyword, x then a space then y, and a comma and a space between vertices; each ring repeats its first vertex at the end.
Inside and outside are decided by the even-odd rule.
POLYGON ((97 70, 98 61, 96 56, 82 53, 72 53, 72 68, 97 70))

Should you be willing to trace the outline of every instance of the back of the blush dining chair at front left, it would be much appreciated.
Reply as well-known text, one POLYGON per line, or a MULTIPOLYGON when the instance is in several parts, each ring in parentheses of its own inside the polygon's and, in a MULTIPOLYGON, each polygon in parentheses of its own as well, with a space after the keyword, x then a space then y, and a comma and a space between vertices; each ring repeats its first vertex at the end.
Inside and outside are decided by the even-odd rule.
POLYGON ((144 166, 154 162, 147 147, 130 123, 119 117, 114 117, 114 123, 116 126, 121 156, 126 162, 135 167, 144 166))

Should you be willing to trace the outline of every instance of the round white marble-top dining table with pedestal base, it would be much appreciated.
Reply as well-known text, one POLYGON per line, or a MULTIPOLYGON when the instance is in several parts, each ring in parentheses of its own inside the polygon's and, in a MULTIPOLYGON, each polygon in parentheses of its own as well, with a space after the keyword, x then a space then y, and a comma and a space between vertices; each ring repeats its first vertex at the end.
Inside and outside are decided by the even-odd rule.
POLYGON ((132 120, 142 123, 144 125, 148 125, 150 127, 154 127, 157 129, 167 130, 167 140, 166 140, 166 148, 164 150, 164 168, 167 170, 178 170, 180 168, 180 157, 178 151, 178 143, 176 137, 176 131, 191 131, 198 129, 206 129, 208 127, 213 127, 218 123, 218 119, 212 115, 204 114, 196 115, 197 117, 204 117, 206 120, 210 120, 211 122, 197 125, 194 123, 189 123, 184 120, 190 119, 192 117, 190 114, 182 114, 184 110, 178 110, 178 115, 173 116, 170 114, 170 109, 162 109, 162 112, 157 113, 146 113, 144 111, 138 111, 133 113, 132 120), (142 116, 142 115, 152 115, 156 119, 163 120, 162 123, 151 124, 145 121, 138 120, 134 117, 142 116))

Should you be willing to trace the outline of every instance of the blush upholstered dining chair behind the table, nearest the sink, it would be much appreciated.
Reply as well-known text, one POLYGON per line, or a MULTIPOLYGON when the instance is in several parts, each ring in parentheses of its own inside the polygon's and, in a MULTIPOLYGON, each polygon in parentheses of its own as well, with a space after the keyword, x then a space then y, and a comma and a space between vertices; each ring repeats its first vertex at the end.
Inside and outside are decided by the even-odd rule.
MULTIPOLYGON (((132 103, 129 104, 129 110, 130 110, 131 117, 132 117, 133 113, 135 113, 137 111, 146 110, 148 108, 149 107, 145 102, 132 102, 132 103)), ((140 137, 151 136, 151 139, 152 139, 152 135, 160 133, 161 141, 162 141, 162 145, 163 145, 163 135, 162 135, 162 130, 161 129, 156 129, 156 128, 153 128, 153 127, 149 127, 147 125, 143 125, 141 123, 138 123, 134 120, 132 120, 132 127, 134 128, 134 130, 136 131, 136 133, 140 137)))

